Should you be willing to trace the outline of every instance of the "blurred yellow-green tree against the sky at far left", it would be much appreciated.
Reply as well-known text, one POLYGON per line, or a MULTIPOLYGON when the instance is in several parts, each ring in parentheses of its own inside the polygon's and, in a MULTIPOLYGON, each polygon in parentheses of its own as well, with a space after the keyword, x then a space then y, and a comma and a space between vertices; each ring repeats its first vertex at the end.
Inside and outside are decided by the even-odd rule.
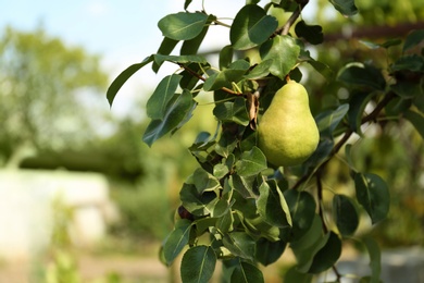
POLYGON ((0 36, 0 164, 17 165, 40 149, 84 147, 95 127, 83 102, 108 82, 100 58, 42 29, 7 27, 0 36))

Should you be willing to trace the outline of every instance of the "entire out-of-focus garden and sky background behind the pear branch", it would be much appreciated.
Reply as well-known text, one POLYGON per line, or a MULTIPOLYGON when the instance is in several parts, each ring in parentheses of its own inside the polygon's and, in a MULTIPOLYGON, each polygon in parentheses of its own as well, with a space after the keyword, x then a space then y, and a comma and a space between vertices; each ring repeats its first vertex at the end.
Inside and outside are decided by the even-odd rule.
MULTIPOLYGON (((204 7, 233 17, 244 3, 214 0, 204 7)), ((399 49, 373 50, 358 39, 381 44, 424 28, 421 0, 356 3, 361 13, 351 19, 324 0, 310 1, 302 14, 308 24, 323 25, 326 42, 311 47, 312 56, 335 71, 352 61, 385 69, 399 49)), ((175 70, 165 65, 154 74, 146 66, 112 108, 105 91, 126 66, 157 51, 158 21, 183 5, 175 0, 0 1, 0 283, 178 282, 177 268, 160 263, 159 248, 172 229, 180 185, 196 168, 187 147, 199 132, 216 127, 210 95, 199 96, 198 119, 148 148, 141 142, 149 122, 145 103, 175 70)), ((195 0, 189 10, 200 9, 195 0)), ((282 23, 289 16, 270 13, 282 23)), ((210 30, 201 52, 214 62, 229 41, 228 30, 210 30)), ((344 97, 337 83, 302 71, 312 110, 344 97)), ((386 249, 422 247, 423 140, 407 122, 387 121, 370 133, 352 148, 354 162, 387 180, 392 206, 388 220, 362 233, 376 236, 386 249)), ((335 189, 351 185, 341 163, 335 160, 329 168, 326 184, 335 189)), ((280 282, 278 264, 274 269, 269 282, 280 282)))

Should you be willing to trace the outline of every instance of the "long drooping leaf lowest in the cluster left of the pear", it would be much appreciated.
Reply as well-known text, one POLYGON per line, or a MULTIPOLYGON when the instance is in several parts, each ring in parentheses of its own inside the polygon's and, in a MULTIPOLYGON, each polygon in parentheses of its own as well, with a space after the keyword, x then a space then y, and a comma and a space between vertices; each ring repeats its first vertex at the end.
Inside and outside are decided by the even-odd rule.
POLYGON ((146 128, 142 140, 151 147, 158 138, 183 126, 182 123, 188 121, 187 118, 191 115, 196 106, 189 91, 175 94, 166 104, 163 120, 152 120, 146 128))

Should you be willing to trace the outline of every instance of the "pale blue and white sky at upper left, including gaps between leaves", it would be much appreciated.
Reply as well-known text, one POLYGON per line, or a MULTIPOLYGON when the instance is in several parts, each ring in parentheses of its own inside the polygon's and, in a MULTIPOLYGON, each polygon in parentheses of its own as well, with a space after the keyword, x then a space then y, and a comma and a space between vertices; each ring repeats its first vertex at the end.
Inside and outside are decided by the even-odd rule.
MULTIPOLYGON (((183 11, 184 0, 0 0, 0 32, 4 26, 29 32, 42 27, 70 46, 80 46, 102 58, 102 66, 113 79, 125 67, 154 53, 162 41, 158 22, 170 13, 183 11)), ((234 17, 245 0, 204 0, 208 13, 234 17)), ((192 0, 189 11, 200 10, 201 0, 192 0)), ((229 42, 228 28, 210 28, 204 50, 229 42)), ((141 69, 119 93, 112 111, 125 112, 140 95, 149 95, 170 70, 154 74, 141 69), (142 93, 142 89, 149 89, 142 93)), ((172 71, 171 71, 172 72, 172 71)), ((109 108, 107 100, 101 103, 109 108)))

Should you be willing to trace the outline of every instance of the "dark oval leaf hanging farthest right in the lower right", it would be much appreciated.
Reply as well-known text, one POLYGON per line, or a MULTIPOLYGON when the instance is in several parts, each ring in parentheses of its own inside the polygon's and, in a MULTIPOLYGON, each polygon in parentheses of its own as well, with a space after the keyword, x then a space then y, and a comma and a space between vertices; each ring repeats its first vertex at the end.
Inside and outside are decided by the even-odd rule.
POLYGON ((369 213, 372 223, 377 223, 387 217, 390 196, 386 182, 372 173, 357 173, 354 176, 358 202, 369 213))

